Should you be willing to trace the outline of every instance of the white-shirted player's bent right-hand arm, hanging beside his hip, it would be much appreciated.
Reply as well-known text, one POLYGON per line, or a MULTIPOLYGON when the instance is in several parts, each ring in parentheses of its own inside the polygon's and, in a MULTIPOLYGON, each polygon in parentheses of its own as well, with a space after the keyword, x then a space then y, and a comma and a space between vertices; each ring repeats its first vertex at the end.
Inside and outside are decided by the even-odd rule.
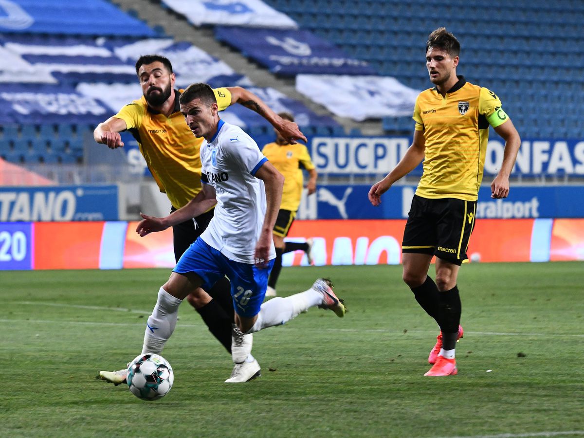
POLYGON ((284 176, 266 161, 255 174, 263 181, 266 190, 266 216, 263 220, 262 232, 255 249, 255 258, 258 266, 265 266, 272 246, 272 230, 280 211, 284 176))

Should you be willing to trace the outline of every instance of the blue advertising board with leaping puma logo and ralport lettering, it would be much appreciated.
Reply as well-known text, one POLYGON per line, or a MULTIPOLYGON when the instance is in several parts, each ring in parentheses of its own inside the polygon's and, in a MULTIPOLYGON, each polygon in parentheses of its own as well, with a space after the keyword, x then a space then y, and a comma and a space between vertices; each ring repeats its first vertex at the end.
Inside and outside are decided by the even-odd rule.
MULTIPOLYGON (((373 207, 367 198, 369 185, 319 185, 304 197, 299 219, 401 219, 408 217, 415 186, 394 186, 373 207)), ((481 187, 478 218, 582 218, 584 186, 511 186, 509 197, 492 199, 491 188, 481 187)))

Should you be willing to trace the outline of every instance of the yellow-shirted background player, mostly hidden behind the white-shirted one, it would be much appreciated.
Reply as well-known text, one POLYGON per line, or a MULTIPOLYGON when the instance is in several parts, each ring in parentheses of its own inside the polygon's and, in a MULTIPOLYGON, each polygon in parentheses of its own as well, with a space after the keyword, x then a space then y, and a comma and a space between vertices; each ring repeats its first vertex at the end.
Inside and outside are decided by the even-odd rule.
MULTIPOLYGON (((282 119, 294 121, 294 117, 290 113, 279 113, 282 119)), ((262 149, 263 154, 269 159, 270 163, 284 175, 284 189, 282 192, 282 201, 280 204, 280 211, 274 230, 272 232, 274 238, 274 246, 276 246, 276 260, 272 272, 267 281, 266 297, 276 296, 276 283, 280 276, 282 269, 282 254, 290 251, 301 249, 308 258, 308 263, 312 263, 310 251, 312 249, 312 239, 308 239, 305 243, 284 242, 284 237, 288 235, 290 227, 294 222, 296 211, 300 206, 300 198, 302 196, 302 189, 304 187, 302 169, 308 171, 308 194, 312 194, 317 190, 317 170, 312 164, 308 149, 303 144, 290 144, 286 138, 276 131, 276 141, 266 144, 262 149)))

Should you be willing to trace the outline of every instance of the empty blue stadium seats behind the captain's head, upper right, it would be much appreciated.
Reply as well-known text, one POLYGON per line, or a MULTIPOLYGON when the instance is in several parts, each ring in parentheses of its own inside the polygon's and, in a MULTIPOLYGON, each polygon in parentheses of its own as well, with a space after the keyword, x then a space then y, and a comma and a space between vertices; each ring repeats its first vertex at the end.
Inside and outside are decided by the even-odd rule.
MULTIPOLYGON (((492 89, 524 137, 580 138, 584 112, 584 4, 578 0, 266 0, 308 29, 414 89, 429 87, 427 35, 461 40, 459 73, 492 89)), ((411 130, 387 117, 385 131, 411 130)))

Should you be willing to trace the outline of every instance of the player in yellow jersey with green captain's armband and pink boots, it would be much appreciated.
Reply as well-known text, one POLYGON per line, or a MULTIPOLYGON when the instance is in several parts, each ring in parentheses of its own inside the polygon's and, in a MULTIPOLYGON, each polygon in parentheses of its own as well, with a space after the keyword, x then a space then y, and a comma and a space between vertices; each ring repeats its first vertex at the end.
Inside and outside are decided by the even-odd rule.
POLYGON ((403 278, 416 301, 440 326, 425 376, 457 373, 454 350, 463 336, 457 275, 467 259, 475 225, 478 189, 485 164, 489 126, 505 140, 503 163, 491 183, 491 196, 509 194, 509 174, 521 140, 499 98, 457 76, 460 43, 444 27, 430 33, 426 67, 434 88, 419 94, 413 112, 413 142, 404 158, 369 191, 374 206, 381 195, 423 160, 402 244, 403 278), (436 256, 436 283, 427 275, 436 256))

